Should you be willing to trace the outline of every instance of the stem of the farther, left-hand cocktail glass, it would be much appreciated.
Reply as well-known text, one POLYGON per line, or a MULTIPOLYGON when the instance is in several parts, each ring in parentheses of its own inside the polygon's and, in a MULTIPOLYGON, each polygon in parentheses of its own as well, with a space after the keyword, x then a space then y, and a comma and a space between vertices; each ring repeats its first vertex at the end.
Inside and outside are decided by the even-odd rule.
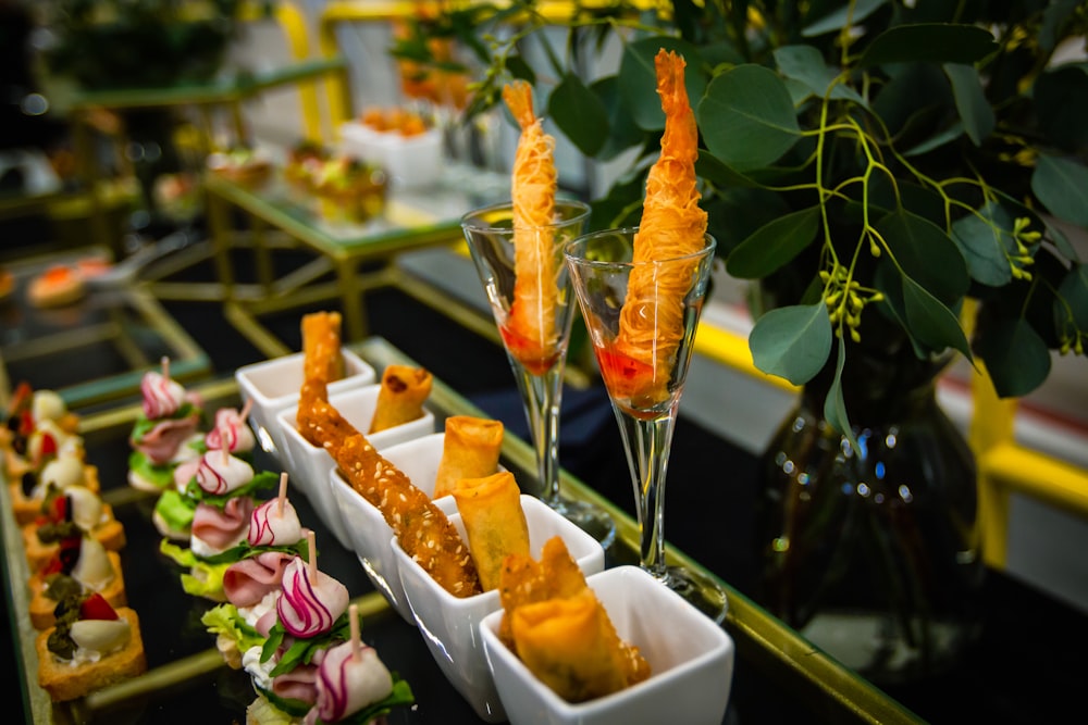
POLYGON ((559 500, 559 403, 562 396, 562 364, 543 375, 533 375, 511 360, 518 389, 526 403, 529 433, 536 451, 540 499, 548 505, 559 500))

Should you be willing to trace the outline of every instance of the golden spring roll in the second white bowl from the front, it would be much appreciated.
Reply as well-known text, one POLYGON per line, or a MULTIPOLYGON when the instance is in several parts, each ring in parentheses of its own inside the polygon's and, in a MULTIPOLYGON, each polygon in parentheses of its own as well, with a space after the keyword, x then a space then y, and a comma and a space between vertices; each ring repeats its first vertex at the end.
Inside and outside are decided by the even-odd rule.
POLYGON ((509 471, 484 478, 461 478, 454 500, 468 535, 469 550, 484 591, 499 585, 503 562, 529 555, 529 523, 521 510, 521 490, 509 471))

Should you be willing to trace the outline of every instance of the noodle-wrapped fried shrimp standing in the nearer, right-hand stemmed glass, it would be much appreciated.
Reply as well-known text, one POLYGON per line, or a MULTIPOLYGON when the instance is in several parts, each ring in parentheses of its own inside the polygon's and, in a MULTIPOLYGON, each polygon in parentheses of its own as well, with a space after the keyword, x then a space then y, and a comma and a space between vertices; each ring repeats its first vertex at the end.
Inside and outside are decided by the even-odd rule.
MULTIPOLYGON (((634 237, 634 262, 665 260, 703 249, 706 212, 700 209, 695 159, 698 132, 684 87, 684 60, 658 51, 657 92, 665 111, 662 153, 650 170, 642 221, 634 237)), ((636 266, 620 312, 617 351, 633 361, 625 397, 640 405, 668 398, 669 373, 684 333, 683 296, 697 262, 669 267, 636 266), (656 309, 656 314, 654 310, 656 309)))

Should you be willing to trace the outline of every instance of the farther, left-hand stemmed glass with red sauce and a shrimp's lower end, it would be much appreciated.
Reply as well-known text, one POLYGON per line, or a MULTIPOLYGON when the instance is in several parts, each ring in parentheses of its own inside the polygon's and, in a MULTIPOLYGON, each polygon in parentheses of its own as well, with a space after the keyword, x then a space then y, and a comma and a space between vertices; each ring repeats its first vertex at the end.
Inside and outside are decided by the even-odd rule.
POLYGON ((542 252, 542 263, 531 265, 537 277, 523 278, 521 284, 511 202, 469 212, 461 218, 461 228, 524 404, 536 452, 540 498, 607 548, 616 538, 611 516, 597 505, 559 493, 559 405, 576 309, 562 249, 583 232, 589 215, 589 205, 580 201, 556 200, 554 224, 518 230, 526 235, 519 237, 521 243, 532 241, 542 252), (521 309, 515 312, 516 304, 521 309))

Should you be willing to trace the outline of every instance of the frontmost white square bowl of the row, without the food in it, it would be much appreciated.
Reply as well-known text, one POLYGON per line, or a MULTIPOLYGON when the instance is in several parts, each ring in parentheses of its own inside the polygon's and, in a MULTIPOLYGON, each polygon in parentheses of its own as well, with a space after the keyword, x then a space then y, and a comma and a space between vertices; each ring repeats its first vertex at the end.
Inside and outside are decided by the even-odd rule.
POLYGON ((650 663, 648 679, 588 702, 571 703, 539 680, 498 639, 502 611, 480 634, 506 714, 518 725, 697 723, 718 725, 733 679, 732 638, 709 617, 638 566, 588 577, 620 639, 650 663))

